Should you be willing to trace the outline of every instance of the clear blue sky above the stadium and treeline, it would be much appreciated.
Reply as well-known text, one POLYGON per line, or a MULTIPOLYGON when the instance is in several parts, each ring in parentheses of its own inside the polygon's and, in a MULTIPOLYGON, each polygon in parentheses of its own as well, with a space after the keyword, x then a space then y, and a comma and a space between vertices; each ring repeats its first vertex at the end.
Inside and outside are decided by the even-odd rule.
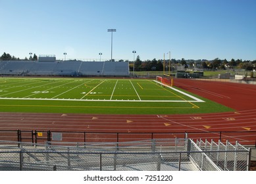
POLYGON ((0 0, 0 55, 256 59, 256 0, 0 0), (166 55, 168 57, 168 55, 166 55))

